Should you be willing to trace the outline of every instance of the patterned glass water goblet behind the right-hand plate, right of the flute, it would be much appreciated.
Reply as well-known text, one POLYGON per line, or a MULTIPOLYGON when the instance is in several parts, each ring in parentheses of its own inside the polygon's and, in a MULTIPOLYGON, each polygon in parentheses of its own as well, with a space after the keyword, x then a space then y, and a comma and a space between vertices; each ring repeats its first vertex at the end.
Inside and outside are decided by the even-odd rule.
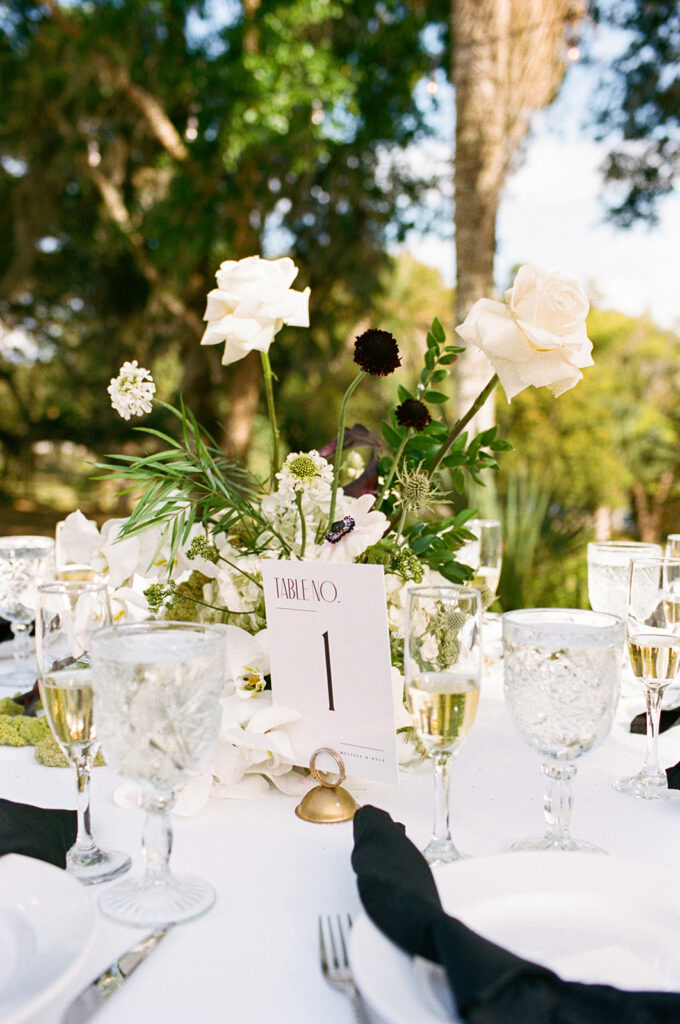
POLYGON ((547 829, 511 850, 602 852, 569 831, 575 760, 611 728, 626 628, 617 615, 524 608, 503 615, 505 701, 519 736, 543 757, 547 829))

